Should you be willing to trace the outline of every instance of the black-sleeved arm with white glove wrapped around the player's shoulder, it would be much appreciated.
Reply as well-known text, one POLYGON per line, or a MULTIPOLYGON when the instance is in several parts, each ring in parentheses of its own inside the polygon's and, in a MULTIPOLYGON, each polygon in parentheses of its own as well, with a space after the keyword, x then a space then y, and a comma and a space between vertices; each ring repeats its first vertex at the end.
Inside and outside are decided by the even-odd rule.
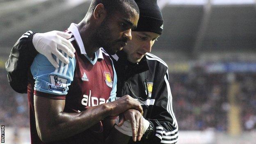
POLYGON ((9 59, 5 64, 7 78, 11 87, 18 93, 27 93, 27 71, 34 57, 39 53, 45 55, 54 66, 58 66, 52 57, 56 55, 62 62, 68 63, 57 49, 63 50, 73 57, 75 49, 67 40, 68 33, 51 31, 46 33, 33 33, 27 31, 11 49, 9 59))

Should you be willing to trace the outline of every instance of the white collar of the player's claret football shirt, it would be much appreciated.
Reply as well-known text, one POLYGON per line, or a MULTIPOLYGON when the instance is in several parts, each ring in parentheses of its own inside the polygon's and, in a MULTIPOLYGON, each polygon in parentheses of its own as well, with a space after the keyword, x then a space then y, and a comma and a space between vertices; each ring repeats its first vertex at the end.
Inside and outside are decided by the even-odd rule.
MULTIPOLYGON (((72 34, 74 35, 75 37, 75 41, 78 43, 78 46, 80 48, 80 52, 81 54, 83 55, 87 55, 86 52, 85 52, 85 46, 84 46, 84 43, 82 42, 82 38, 80 36, 80 33, 78 31, 78 28, 77 28, 77 24, 75 23, 71 23, 71 25, 69 26, 68 30, 70 32, 72 32, 72 34)), ((102 55, 102 50, 101 48, 99 48, 97 51, 96 51, 96 56, 98 59, 104 59, 103 58, 103 55, 102 55)))

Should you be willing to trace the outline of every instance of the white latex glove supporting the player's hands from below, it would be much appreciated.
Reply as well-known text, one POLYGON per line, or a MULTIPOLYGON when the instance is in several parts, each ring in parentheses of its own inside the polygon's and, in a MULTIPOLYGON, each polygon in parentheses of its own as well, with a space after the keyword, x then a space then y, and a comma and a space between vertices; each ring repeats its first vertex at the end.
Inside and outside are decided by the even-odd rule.
MULTIPOLYGON (((149 128, 149 121, 144 119, 144 117, 142 117, 143 119, 143 135, 146 132, 146 130, 149 128)), ((118 127, 118 123, 119 123, 119 118, 115 119, 115 123, 116 125, 114 126, 120 133, 123 133, 125 135, 128 135, 130 137, 133 136, 133 131, 132 131, 132 126, 130 121, 124 121, 123 125, 118 127)))

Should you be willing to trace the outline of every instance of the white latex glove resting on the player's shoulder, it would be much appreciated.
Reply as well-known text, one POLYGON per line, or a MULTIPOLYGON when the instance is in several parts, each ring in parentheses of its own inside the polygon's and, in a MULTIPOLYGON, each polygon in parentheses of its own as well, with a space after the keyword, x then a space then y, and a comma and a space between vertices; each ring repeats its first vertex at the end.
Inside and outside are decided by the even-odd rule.
POLYGON ((59 50, 64 51, 69 57, 75 57, 75 48, 71 42, 67 39, 71 37, 71 34, 67 32, 51 31, 46 33, 36 33, 33 35, 32 43, 38 53, 46 56, 51 64, 55 68, 59 68, 59 64, 55 61, 52 54, 65 64, 69 64, 67 59, 59 50), (59 50, 58 50, 59 49, 59 50))

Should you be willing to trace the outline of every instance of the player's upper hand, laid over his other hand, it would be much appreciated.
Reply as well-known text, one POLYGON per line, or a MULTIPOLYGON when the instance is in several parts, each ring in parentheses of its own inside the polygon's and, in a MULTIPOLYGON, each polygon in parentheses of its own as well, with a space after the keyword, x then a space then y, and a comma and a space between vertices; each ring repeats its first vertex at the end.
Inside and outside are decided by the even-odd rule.
POLYGON ((122 96, 116 101, 107 103, 107 105, 110 105, 111 107, 110 116, 118 116, 119 114, 129 109, 136 109, 143 114, 140 103, 129 95, 122 96))

